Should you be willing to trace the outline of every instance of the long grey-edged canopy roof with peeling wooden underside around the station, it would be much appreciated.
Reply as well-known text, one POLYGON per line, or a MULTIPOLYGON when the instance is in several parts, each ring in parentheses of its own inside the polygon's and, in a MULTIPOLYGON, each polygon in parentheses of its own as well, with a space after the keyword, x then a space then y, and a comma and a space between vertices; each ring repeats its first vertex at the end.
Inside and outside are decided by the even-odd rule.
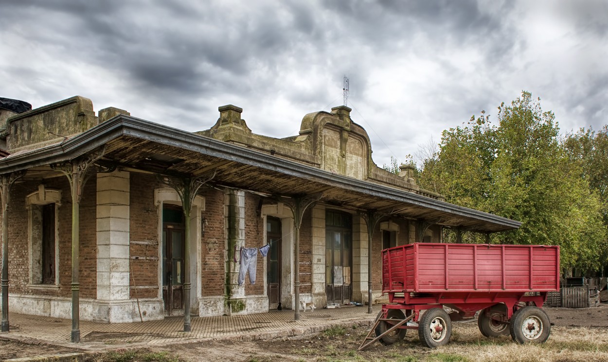
POLYGON ((22 180, 58 176, 51 163, 65 162, 105 147, 102 160, 131 172, 196 177, 215 170, 213 182, 263 196, 322 192, 322 202, 356 210, 376 210, 447 227, 496 232, 521 223, 459 207, 380 183, 353 179, 269 153, 119 115, 61 143, 0 159, 0 172, 26 169, 22 180))

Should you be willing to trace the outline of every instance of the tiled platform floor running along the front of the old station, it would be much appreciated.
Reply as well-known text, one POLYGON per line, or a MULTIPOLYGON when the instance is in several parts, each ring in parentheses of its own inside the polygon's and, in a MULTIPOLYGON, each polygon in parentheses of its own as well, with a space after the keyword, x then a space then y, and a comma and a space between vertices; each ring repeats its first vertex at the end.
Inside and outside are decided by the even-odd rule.
POLYGON ((192 343, 199 340, 264 340, 282 336, 320 332, 332 326, 369 326, 380 306, 367 313, 367 306, 316 309, 300 313, 294 321, 292 310, 268 313, 193 317, 192 332, 182 332, 183 318, 167 318, 143 323, 95 323, 80 321, 81 343, 70 342, 71 319, 50 318, 9 313, 10 332, 0 338, 28 343, 49 343, 88 350, 101 350, 119 346, 192 343))

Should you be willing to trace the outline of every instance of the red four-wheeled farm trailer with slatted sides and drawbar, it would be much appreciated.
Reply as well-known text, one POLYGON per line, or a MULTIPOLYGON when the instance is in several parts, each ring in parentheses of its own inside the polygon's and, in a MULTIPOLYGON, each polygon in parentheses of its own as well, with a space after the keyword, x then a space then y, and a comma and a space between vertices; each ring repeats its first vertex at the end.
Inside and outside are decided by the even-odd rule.
POLYGON ((385 249, 382 293, 390 304, 382 305, 359 350, 378 340, 395 343, 408 329, 417 329, 426 346, 442 346, 452 320, 477 311, 484 336, 542 343, 551 326, 541 307, 547 293, 558 290, 559 246, 415 243, 385 249))

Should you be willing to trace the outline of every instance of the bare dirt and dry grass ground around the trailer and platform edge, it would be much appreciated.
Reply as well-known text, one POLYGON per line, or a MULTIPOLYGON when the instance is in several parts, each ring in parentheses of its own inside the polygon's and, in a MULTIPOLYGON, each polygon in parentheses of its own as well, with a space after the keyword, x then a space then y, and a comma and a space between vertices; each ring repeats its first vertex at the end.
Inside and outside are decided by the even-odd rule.
MULTIPOLYGON (((185 361, 224 362, 608 360, 608 333, 606 332, 606 327, 608 327, 608 304, 600 304, 599 307, 587 309, 546 308, 545 311, 547 311, 553 324, 551 336, 547 343, 541 347, 526 346, 528 350, 523 353, 526 356, 525 359, 520 359, 522 352, 517 350, 523 348, 523 346, 513 343, 510 336, 488 340, 478 331, 475 321, 454 323, 451 343, 435 350, 421 347, 417 333, 409 330, 406 339, 402 342, 392 346, 375 343, 368 349, 358 352, 359 344, 368 332, 368 329, 359 327, 342 331, 330 331, 330 333, 320 333, 319 335, 307 335, 298 339, 285 338, 254 342, 202 341, 190 344, 174 344, 148 349, 147 351, 168 351, 185 361), (530 358, 530 347, 542 350, 538 356, 530 358), (493 349, 504 350, 499 352, 487 351, 493 349), (513 355, 510 355, 511 349, 515 349, 512 352, 513 355), (470 350, 475 350, 475 353, 471 353, 470 350), (492 353, 498 353, 498 355, 492 353), (444 355, 447 355, 447 357, 444 355), (502 358, 504 356, 507 357, 502 358)), ((23 344, 1 340, 1 338, 0 335, 0 361, 18 357, 82 352, 81 350, 46 344, 23 344)), ((100 357, 91 357, 89 360, 101 361, 100 357)))

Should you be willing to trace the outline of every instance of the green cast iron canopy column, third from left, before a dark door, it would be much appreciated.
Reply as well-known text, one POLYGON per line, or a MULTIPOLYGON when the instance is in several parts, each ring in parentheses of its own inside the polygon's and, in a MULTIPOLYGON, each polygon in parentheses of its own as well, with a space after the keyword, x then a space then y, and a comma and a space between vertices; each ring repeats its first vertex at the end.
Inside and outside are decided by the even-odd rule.
POLYGON ((192 209, 192 203, 198 190, 202 185, 212 180, 213 177, 215 177, 215 170, 193 178, 158 177, 162 183, 170 186, 178 193, 179 198, 182 200, 182 210, 184 211, 184 332, 192 330, 192 323, 190 322, 190 290, 192 290, 192 282, 190 281, 190 209, 192 209))

